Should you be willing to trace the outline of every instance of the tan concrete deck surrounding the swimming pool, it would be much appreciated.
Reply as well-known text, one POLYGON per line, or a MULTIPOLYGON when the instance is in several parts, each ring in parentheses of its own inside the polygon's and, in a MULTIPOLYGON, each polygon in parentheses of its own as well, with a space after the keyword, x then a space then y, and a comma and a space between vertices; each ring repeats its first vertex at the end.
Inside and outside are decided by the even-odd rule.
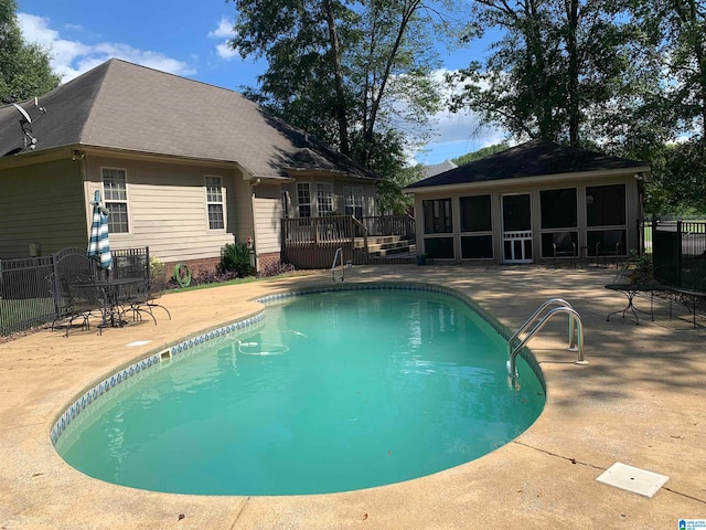
MULTIPOLYGON (((106 329, 40 330, 0 342, 0 529, 677 529, 706 519, 706 328, 628 315, 606 289, 612 269, 414 265, 353 267, 345 282, 424 282, 456 288, 512 330, 546 299, 581 316, 588 365, 567 352, 565 318, 530 347, 547 382, 537 422, 468 464, 361 491, 295 497, 207 497, 140 491, 76 471, 50 430, 101 377, 176 338, 259 311, 252 298, 332 285, 330 272, 189 293, 158 317, 106 329), (127 347, 133 341, 149 341, 127 347), (670 477, 652 498, 600 484, 617 462, 670 477)), ((649 299, 638 299, 649 309, 649 299)), ((702 324, 703 319, 702 319, 702 324)), ((504 360, 502 360, 504 362, 504 360)), ((410 441, 414 443, 414 441, 410 441)))

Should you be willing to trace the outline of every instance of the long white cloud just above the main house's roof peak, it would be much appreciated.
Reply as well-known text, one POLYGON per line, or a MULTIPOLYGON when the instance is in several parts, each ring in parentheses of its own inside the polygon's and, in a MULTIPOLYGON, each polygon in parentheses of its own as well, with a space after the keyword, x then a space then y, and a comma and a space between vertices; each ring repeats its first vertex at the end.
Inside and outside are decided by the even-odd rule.
POLYGON ((22 35, 28 42, 36 42, 49 49, 52 68, 66 83, 105 61, 116 57, 176 75, 194 75, 195 70, 183 61, 149 50, 138 50, 128 44, 100 42, 85 44, 62 39, 50 26, 50 20, 29 13, 18 13, 22 35))

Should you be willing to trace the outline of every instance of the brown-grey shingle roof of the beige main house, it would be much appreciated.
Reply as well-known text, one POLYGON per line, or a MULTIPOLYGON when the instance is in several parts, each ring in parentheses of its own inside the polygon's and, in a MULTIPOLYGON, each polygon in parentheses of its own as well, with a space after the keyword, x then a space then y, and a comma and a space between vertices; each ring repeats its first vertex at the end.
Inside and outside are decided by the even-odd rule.
MULTIPOLYGON (((39 104, 47 112, 32 125, 35 153, 86 146, 234 161, 255 178, 298 169, 376 179, 236 92, 117 59, 40 96, 39 104)), ((33 105, 22 106, 34 115, 33 105)), ((0 107, 0 156, 23 147, 19 118, 12 105, 0 107)))

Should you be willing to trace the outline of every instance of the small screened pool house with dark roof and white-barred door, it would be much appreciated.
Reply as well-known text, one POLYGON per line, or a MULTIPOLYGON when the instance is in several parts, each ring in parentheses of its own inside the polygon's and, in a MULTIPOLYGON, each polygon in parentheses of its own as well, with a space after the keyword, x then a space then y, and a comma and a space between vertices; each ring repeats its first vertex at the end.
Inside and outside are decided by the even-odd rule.
POLYGON ((649 165, 532 140, 408 186, 417 250, 437 261, 541 263, 639 247, 649 165))

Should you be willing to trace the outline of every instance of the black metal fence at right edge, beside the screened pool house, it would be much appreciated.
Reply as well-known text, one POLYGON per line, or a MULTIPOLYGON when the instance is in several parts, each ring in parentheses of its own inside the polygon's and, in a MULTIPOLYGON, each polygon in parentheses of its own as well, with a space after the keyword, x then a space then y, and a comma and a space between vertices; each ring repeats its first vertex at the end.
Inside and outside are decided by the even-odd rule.
POLYGON ((652 263, 660 283, 706 292, 706 222, 652 221, 652 263))

